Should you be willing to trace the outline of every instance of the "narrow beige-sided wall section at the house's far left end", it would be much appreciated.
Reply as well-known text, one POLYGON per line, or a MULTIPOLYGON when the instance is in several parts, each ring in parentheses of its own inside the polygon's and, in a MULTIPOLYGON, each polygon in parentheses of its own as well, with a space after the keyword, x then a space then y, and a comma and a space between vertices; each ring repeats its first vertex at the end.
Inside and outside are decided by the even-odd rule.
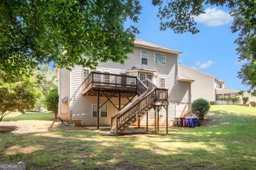
POLYGON ((68 97, 68 71, 59 69, 59 115, 63 120, 68 119, 68 104, 61 101, 62 98, 68 97))

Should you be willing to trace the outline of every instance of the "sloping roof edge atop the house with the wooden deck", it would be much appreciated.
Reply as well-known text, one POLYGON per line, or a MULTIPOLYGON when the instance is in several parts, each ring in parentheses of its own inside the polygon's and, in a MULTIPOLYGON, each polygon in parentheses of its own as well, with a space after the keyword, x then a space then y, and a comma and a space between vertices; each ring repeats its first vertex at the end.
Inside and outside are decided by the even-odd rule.
POLYGON ((178 55, 182 54, 182 52, 178 52, 177 50, 173 50, 173 49, 170 49, 170 48, 159 46, 157 44, 149 43, 148 41, 138 39, 138 38, 135 39, 134 44, 137 47, 155 49, 155 50, 159 50, 159 51, 162 51, 162 52, 173 53, 173 54, 178 54, 178 55))

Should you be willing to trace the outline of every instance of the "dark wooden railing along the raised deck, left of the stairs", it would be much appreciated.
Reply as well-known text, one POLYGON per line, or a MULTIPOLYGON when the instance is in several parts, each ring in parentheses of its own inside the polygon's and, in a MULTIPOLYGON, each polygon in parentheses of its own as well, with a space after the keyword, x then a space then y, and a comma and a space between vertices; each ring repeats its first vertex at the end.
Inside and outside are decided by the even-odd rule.
POLYGON ((137 77, 131 75, 101 73, 92 71, 82 82, 82 90, 91 84, 102 86, 118 86, 118 87, 137 87, 137 77))

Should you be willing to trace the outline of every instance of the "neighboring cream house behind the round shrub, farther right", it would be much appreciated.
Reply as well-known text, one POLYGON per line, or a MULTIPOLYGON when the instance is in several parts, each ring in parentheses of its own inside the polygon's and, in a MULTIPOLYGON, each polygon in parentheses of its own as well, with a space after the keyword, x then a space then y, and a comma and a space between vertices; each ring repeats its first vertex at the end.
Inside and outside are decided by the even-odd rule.
POLYGON ((191 101, 204 98, 208 101, 214 101, 215 104, 218 105, 227 104, 227 101, 220 100, 225 96, 238 96, 237 92, 239 90, 228 89, 225 81, 189 66, 179 64, 179 74, 185 74, 195 80, 195 82, 191 84, 191 101))

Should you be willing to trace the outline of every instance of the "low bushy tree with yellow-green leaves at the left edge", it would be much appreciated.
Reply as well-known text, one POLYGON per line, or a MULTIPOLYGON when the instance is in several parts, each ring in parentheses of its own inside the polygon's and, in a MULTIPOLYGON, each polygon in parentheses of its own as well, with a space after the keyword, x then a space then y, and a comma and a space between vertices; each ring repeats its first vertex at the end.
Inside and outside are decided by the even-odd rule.
POLYGON ((26 109, 34 108, 41 96, 40 91, 34 86, 33 79, 20 79, 12 83, 0 80, 0 122, 13 111, 25 113, 26 109))

